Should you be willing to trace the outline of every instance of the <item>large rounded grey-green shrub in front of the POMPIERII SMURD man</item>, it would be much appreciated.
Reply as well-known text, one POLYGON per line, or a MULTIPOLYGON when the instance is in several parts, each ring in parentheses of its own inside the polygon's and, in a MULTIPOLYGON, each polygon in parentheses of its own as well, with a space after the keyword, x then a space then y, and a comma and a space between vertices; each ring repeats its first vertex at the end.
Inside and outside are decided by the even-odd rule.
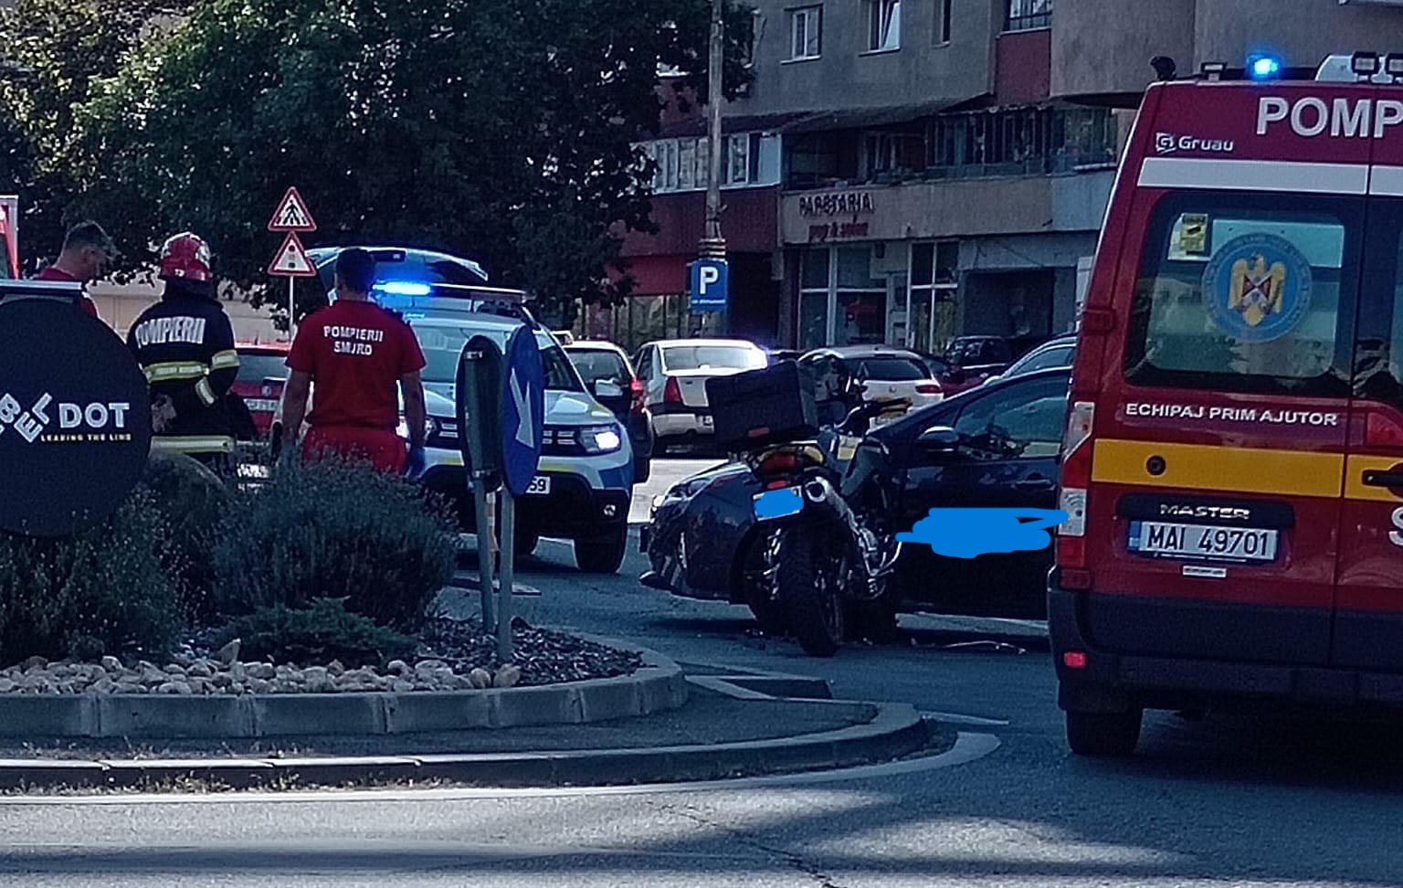
POLYGON ((403 478, 320 462, 281 469, 237 499, 213 551, 224 614, 342 598, 347 610, 412 633, 453 577, 452 518, 403 478))

